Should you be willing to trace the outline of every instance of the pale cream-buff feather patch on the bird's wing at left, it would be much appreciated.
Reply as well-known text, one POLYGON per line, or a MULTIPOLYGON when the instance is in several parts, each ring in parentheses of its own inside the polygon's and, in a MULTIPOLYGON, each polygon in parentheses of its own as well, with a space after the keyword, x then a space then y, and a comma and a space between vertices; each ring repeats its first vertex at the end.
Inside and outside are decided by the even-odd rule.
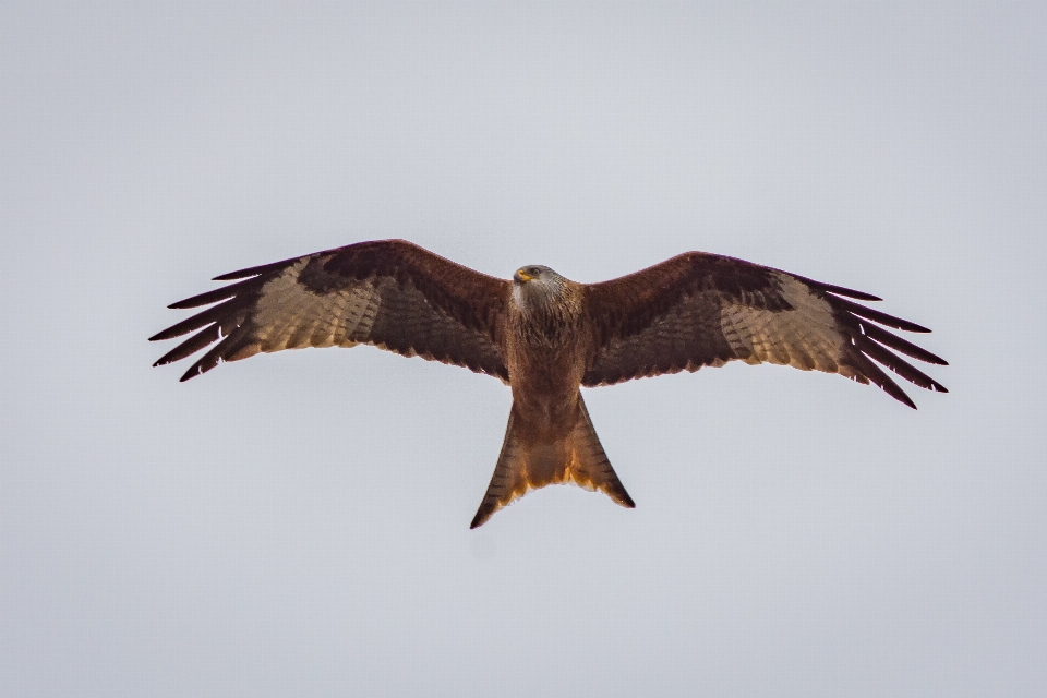
POLYGON ((302 260, 262 288, 252 318, 262 351, 352 347, 371 332, 380 304, 374 285, 317 294, 298 281, 308 263, 302 260))

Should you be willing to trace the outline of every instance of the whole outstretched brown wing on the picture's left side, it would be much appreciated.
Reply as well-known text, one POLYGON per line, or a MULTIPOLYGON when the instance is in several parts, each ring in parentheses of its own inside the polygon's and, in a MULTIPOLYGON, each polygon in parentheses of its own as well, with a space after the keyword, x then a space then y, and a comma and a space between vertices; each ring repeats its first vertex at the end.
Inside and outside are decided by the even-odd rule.
POLYGON ((370 344, 508 378, 494 326, 509 282, 410 242, 361 242, 215 277, 237 279, 170 305, 218 303, 151 337, 198 330, 154 365, 217 341, 185 372, 188 381, 260 351, 370 344))

